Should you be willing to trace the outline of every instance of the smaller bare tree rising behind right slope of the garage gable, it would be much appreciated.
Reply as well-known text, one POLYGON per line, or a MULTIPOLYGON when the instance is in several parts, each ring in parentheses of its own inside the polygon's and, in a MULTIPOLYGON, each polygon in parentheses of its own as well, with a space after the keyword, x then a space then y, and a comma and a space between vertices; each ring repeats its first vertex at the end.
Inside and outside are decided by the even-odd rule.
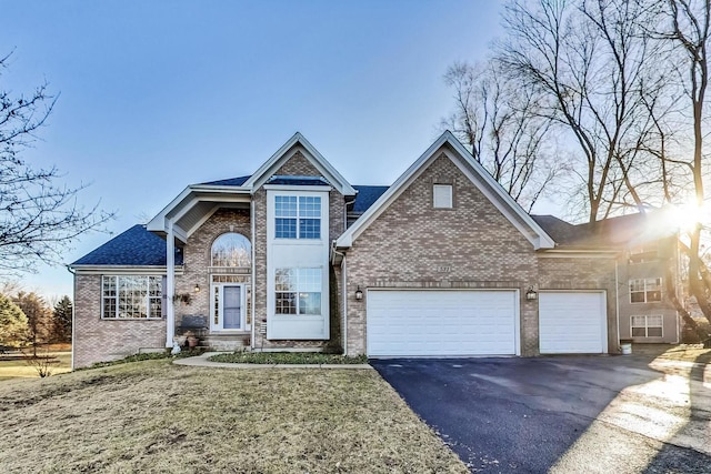
POLYGON ((443 127, 530 212, 564 168, 552 158, 552 141, 547 141, 551 122, 540 115, 533 90, 507 77, 495 60, 457 62, 444 82, 453 89, 455 109, 443 127))

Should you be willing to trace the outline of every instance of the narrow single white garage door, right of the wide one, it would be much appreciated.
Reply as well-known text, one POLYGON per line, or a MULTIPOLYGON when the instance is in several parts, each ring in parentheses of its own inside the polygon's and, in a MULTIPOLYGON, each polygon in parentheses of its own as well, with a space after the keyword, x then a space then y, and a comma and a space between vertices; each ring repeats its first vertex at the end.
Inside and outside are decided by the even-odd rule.
POLYGON ((604 292, 540 292, 541 354, 608 352, 604 292))

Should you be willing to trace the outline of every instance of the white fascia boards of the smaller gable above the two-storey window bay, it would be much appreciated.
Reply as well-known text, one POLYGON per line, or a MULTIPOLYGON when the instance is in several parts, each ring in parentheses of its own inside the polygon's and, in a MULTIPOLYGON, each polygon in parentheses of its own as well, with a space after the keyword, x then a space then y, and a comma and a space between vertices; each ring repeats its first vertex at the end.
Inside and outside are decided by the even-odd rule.
POLYGON ((259 189, 259 186, 263 184, 264 181, 267 181, 267 179, 269 178, 269 171, 272 170, 272 168, 276 168, 276 165, 283 158, 286 158, 286 153, 297 143, 301 144, 301 147, 307 152, 304 154, 307 160, 309 160, 317 170, 326 174, 327 180, 334 184, 336 189, 338 189, 341 194, 356 194, 356 190, 346 180, 346 178, 343 178, 341 173, 339 173, 336 168, 333 168, 331 163, 329 163, 329 161, 299 132, 294 133, 293 137, 291 137, 283 145, 281 145, 269 160, 267 160, 261 167, 259 167, 254 174, 252 174, 242 186, 251 189, 252 192, 259 189), (313 159, 309 159, 309 155, 311 155, 313 159))

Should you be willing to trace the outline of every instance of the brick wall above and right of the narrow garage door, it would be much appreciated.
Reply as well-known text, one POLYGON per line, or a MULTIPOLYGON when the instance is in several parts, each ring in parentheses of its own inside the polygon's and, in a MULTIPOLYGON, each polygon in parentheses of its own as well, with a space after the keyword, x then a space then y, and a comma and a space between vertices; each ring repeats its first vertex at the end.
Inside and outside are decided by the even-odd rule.
MULTIPOLYGON (((539 254, 539 291, 604 290, 608 306, 608 352, 618 351, 617 297, 614 273, 615 259, 610 258, 561 258, 539 254)), ((570 327, 570 331, 575 331, 570 327)))

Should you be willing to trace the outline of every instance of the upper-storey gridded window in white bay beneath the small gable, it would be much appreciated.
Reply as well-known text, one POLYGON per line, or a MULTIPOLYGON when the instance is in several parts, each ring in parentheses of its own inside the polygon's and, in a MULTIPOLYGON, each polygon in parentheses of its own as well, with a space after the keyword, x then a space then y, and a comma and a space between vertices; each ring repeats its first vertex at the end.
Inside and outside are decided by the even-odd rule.
POLYGON ((320 196, 274 196, 274 238, 321 239, 320 196))

